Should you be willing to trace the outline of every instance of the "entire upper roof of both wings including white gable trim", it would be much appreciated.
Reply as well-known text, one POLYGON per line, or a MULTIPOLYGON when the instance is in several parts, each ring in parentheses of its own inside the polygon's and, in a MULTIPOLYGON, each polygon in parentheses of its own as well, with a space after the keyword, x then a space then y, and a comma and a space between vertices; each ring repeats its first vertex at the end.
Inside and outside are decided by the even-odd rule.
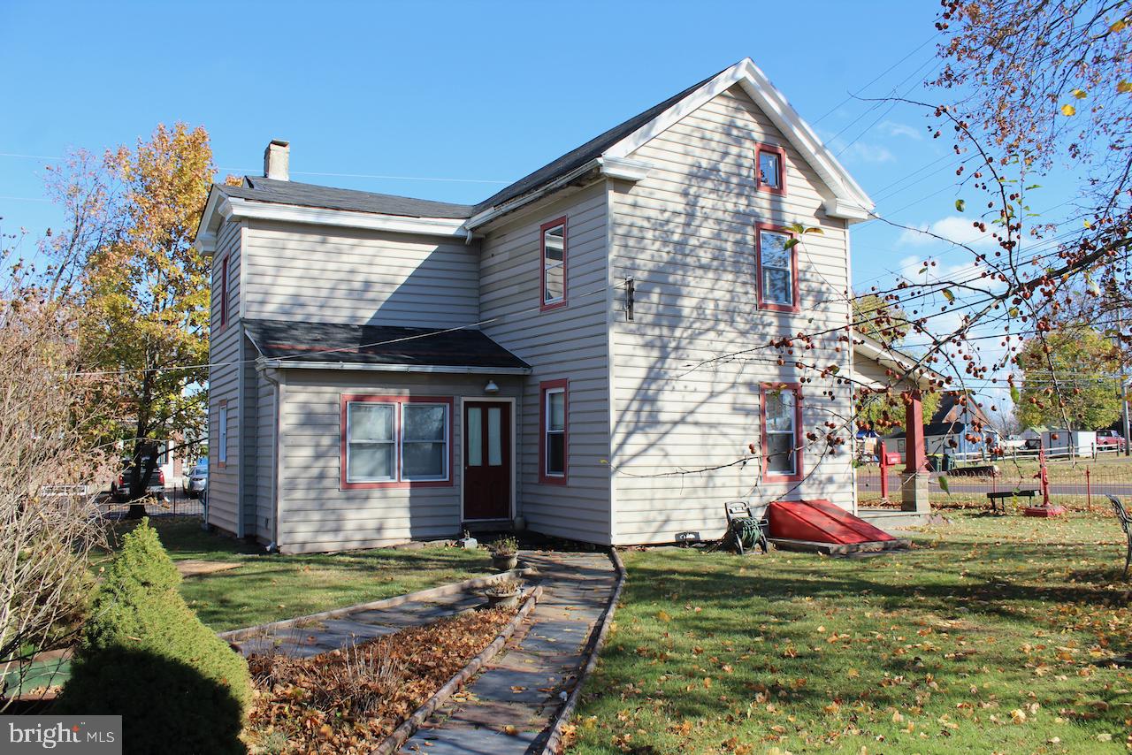
MULTIPOLYGON (((825 203, 826 213, 850 221, 868 217, 873 200, 865 190, 822 144, 814 130, 771 84, 766 75, 755 66, 754 61, 744 58, 734 66, 590 139, 475 205, 457 205, 371 191, 336 189, 314 183, 246 177, 246 186, 241 187, 213 185, 208 205, 197 231, 198 237, 201 235, 201 231, 208 234, 215 230, 215 225, 218 225, 218 220, 215 220, 220 204, 216 201, 217 195, 235 200, 367 213, 380 217, 458 220, 464 221, 462 225, 426 222, 420 226, 385 224, 383 228, 440 235, 470 234, 471 229, 507 212, 508 208, 521 206, 546 191, 556 190, 559 188, 558 182, 569 179, 574 172, 583 171, 588 165, 601 168, 602 161, 610 163, 625 161, 642 145, 732 86, 740 86, 747 93, 829 188, 832 198, 825 203)), ((333 224, 332 218, 326 216, 319 216, 311 222, 333 224)))

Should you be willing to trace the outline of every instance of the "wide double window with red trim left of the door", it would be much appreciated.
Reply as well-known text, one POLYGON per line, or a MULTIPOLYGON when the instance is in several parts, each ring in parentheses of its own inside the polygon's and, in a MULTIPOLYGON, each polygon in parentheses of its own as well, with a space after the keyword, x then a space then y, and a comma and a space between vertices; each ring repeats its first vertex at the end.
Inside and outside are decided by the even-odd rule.
POLYGON ((342 397, 342 487, 451 484, 452 398, 342 397))

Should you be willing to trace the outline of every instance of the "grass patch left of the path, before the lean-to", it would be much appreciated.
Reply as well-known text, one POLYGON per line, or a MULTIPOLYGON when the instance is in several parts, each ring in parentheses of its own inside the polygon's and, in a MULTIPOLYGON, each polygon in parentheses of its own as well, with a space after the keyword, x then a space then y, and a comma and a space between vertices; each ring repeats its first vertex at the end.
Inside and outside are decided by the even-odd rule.
MULTIPOLYGON (((460 582, 490 572, 484 551, 379 548, 303 556, 205 532, 196 520, 151 520, 174 561, 201 559, 239 568, 186 577, 181 594, 216 632, 341 608, 460 582)), ((119 534, 131 524, 119 527, 119 534)))

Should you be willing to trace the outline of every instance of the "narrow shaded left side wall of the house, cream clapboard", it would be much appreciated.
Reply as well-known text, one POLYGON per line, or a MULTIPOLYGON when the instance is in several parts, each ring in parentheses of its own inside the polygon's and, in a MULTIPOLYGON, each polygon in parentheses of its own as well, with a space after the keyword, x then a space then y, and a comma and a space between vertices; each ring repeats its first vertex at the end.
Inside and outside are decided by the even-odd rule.
POLYGON ((212 329, 208 338, 208 524, 237 532, 240 494, 240 223, 225 222, 212 259, 212 329), (228 259, 228 326, 221 321, 221 272, 228 259), (220 406, 228 402, 228 462, 220 465, 220 406))

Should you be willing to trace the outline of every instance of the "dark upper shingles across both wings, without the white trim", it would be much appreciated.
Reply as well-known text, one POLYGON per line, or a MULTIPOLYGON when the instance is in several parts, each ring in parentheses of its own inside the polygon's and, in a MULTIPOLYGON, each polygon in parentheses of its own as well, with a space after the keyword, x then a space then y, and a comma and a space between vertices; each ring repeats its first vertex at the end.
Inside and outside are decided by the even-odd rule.
POLYGON ((672 95, 668 100, 653 105, 649 110, 634 115, 627 121, 615 126, 601 136, 590 139, 581 147, 567 152, 561 157, 547 163, 539 170, 530 173, 511 186, 488 197, 477 205, 453 205, 445 201, 431 201, 428 199, 413 199, 411 197, 398 197, 389 194, 374 194, 371 191, 355 191, 352 189, 334 189, 314 183, 299 183, 295 181, 276 181, 267 178, 248 175, 245 180, 249 186, 233 187, 216 185, 216 189, 229 197, 241 199, 254 199, 256 201, 271 201, 285 205, 301 205, 305 207, 325 207, 327 209, 349 209, 362 213, 379 213, 384 215, 403 215, 409 217, 471 217, 484 209, 497 207, 511 199, 515 199, 525 194, 530 194, 540 187, 554 181, 560 175, 581 168, 591 160, 601 156, 615 144, 632 135, 642 126, 657 118, 677 102, 688 96, 701 86, 719 76, 713 74, 703 81, 693 84, 679 94, 672 95))

